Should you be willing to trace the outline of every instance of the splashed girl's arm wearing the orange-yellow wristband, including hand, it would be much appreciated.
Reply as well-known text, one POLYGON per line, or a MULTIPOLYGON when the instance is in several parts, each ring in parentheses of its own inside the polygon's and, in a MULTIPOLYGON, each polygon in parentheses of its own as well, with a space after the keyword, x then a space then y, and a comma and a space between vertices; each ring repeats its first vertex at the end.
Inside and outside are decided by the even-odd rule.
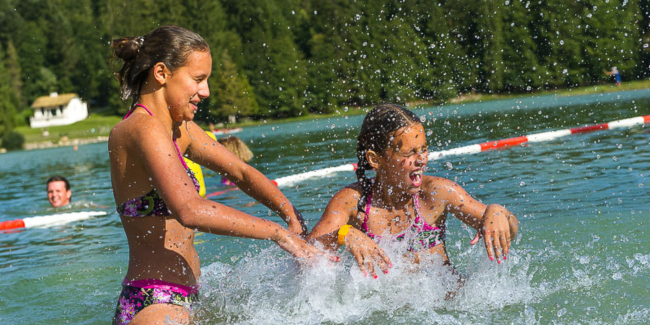
MULTIPOLYGON (((318 223, 307 235, 308 241, 318 241, 326 248, 335 251, 340 247, 339 229, 346 224, 358 226, 355 224, 352 216, 357 213, 357 202, 359 201, 359 192, 350 187, 346 187, 336 193, 325 208, 323 216, 318 223)), ((390 259, 379 248, 377 244, 370 239, 361 230, 351 227, 345 237, 341 236, 347 249, 357 261, 359 269, 366 275, 368 271, 372 277, 377 278, 375 273, 375 264, 384 272, 388 273, 388 268, 392 267, 390 259)))

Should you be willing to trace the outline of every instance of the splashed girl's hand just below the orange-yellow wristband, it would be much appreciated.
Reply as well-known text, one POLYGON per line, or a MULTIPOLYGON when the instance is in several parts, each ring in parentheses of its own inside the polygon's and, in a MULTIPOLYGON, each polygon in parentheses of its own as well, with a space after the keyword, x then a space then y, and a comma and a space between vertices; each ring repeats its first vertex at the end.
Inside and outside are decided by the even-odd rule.
POLYGON ((347 250, 350 251, 352 256, 359 264, 359 270, 366 276, 368 271, 373 278, 377 278, 375 273, 375 264, 384 272, 388 273, 388 268, 393 267, 390 259, 384 253, 384 250, 377 246, 370 237, 364 234, 361 230, 350 228, 347 236, 345 236, 345 245, 347 250))

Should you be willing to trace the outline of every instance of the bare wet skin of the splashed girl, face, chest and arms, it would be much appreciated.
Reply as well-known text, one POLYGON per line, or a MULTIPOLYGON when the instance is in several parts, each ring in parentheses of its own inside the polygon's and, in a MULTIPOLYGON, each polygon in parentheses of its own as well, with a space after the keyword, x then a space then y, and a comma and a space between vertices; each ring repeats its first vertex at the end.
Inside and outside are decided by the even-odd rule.
MULTIPOLYGON (((368 151, 366 157, 377 171, 372 187, 372 203, 368 218, 368 231, 374 234, 400 234, 415 219, 413 194, 418 194, 420 212, 425 221, 434 227, 445 224, 448 213, 465 224, 480 229, 488 256, 500 262, 510 249, 510 241, 518 230, 517 219, 500 205, 485 205, 470 196, 453 181, 433 176, 420 176, 428 163, 427 142, 424 128, 414 124, 402 128, 393 136, 384 152, 368 151)), ((357 203, 362 194, 358 183, 351 184, 336 193, 323 216, 308 236, 326 247, 336 249, 338 229, 350 224, 354 228, 345 237, 346 245, 357 259, 362 272, 375 275, 374 265, 384 272, 391 265, 385 253, 360 229, 366 217, 357 203)), ((476 242, 477 238, 473 242, 476 242)), ((440 254, 449 258, 444 242, 430 249, 413 253, 440 254)), ((411 254, 411 253, 408 253, 411 254)))

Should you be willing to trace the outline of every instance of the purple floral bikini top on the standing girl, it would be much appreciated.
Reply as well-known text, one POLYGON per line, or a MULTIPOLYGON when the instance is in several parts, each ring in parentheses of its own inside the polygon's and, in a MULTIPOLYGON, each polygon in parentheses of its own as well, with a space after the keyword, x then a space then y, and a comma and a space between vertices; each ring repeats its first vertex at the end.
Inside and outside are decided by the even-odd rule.
MULTIPOLYGON (((140 106, 144 108, 149 115, 153 116, 151 111, 147 109, 142 104, 137 104, 136 106, 140 106)), ((134 106, 134 108, 136 107, 134 106)), ((131 113, 133 113, 133 108, 124 116, 124 119, 127 117, 131 116, 131 113)), ((185 167, 185 170, 187 171, 187 175, 190 176, 192 179, 192 182, 194 183, 194 187, 196 188, 196 191, 198 192, 201 189, 201 185, 199 184, 198 180, 196 179, 196 176, 194 176, 194 173, 192 170, 187 166, 185 163, 185 160, 183 159, 183 156, 181 155, 181 151, 178 148, 178 145, 176 144, 176 139, 173 139, 174 141, 174 146, 176 147, 176 153, 178 153, 178 158, 181 160, 181 163, 183 163, 183 167, 185 167)), ((163 201, 162 197, 160 194, 158 194, 158 191, 156 189, 152 189, 151 192, 135 198, 128 200, 122 204, 117 205, 117 212, 120 215, 123 215, 125 217, 146 217, 146 216, 170 216, 172 215, 172 212, 169 211, 167 208, 167 204, 165 204, 165 201, 163 201)))

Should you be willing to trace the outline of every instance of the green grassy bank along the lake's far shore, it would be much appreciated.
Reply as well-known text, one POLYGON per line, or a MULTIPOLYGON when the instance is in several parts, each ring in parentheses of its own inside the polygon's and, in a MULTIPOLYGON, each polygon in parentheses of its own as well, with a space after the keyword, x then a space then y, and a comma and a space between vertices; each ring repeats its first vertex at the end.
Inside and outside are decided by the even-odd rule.
MULTIPOLYGON (((483 102, 483 101, 492 101, 492 100, 501 100, 509 98, 522 98, 522 97, 532 97, 532 96, 544 96, 544 95, 555 95, 555 96, 579 96, 579 95, 590 95, 598 93, 608 93, 608 92, 617 92, 617 91, 629 91, 629 90, 645 90, 650 89, 650 80, 640 80, 640 81, 630 81, 624 82, 621 87, 616 87, 613 83, 605 85, 595 85, 587 87, 579 87, 572 89, 557 89, 557 90, 544 90, 538 92, 529 92, 529 93, 503 93, 503 94, 466 94, 460 95, 456 98, 452 98, 444 105, 447 104, 459 104, 459 103, 471 103, 471 102, 483 102)), ((410 106, 428 106, 428 105, 439 105, 440 103, 415 103, 410 106)), ((295 122, 295 121, 304 121, 304 120, 314 120, 328 117, 338 117, 343 115, 360 115, 367 112, 367 107, 342 107, 337 109, 334 113, 331 114, 310 114, 299 117, 292 117, 286 119, 266 119, 260 121, 242 121, 236 124, 230 124, 228 127, 247 127, 255 126, 265 123, 286 123, 286 122, 295 122)), ((32 129, 28 126, 19 127, 16 129, 19 133, 25 136, 26 143, 35 143, 35 142, 58 142, 62 138, 67 137, 69 140, 73 139, 84 139, 84 138, 94 138, 97 136, 108 136, 113 125, 119 122, 122 119, 120 116, 107 116, 104 114, 94 113, 84 121, 77 122, 72 125, 65 126, 55 126, 47 128, 47 133, 44 135, 44 129, 32 129)), ((207 129, 207 126, 204 126, 207 129)))

